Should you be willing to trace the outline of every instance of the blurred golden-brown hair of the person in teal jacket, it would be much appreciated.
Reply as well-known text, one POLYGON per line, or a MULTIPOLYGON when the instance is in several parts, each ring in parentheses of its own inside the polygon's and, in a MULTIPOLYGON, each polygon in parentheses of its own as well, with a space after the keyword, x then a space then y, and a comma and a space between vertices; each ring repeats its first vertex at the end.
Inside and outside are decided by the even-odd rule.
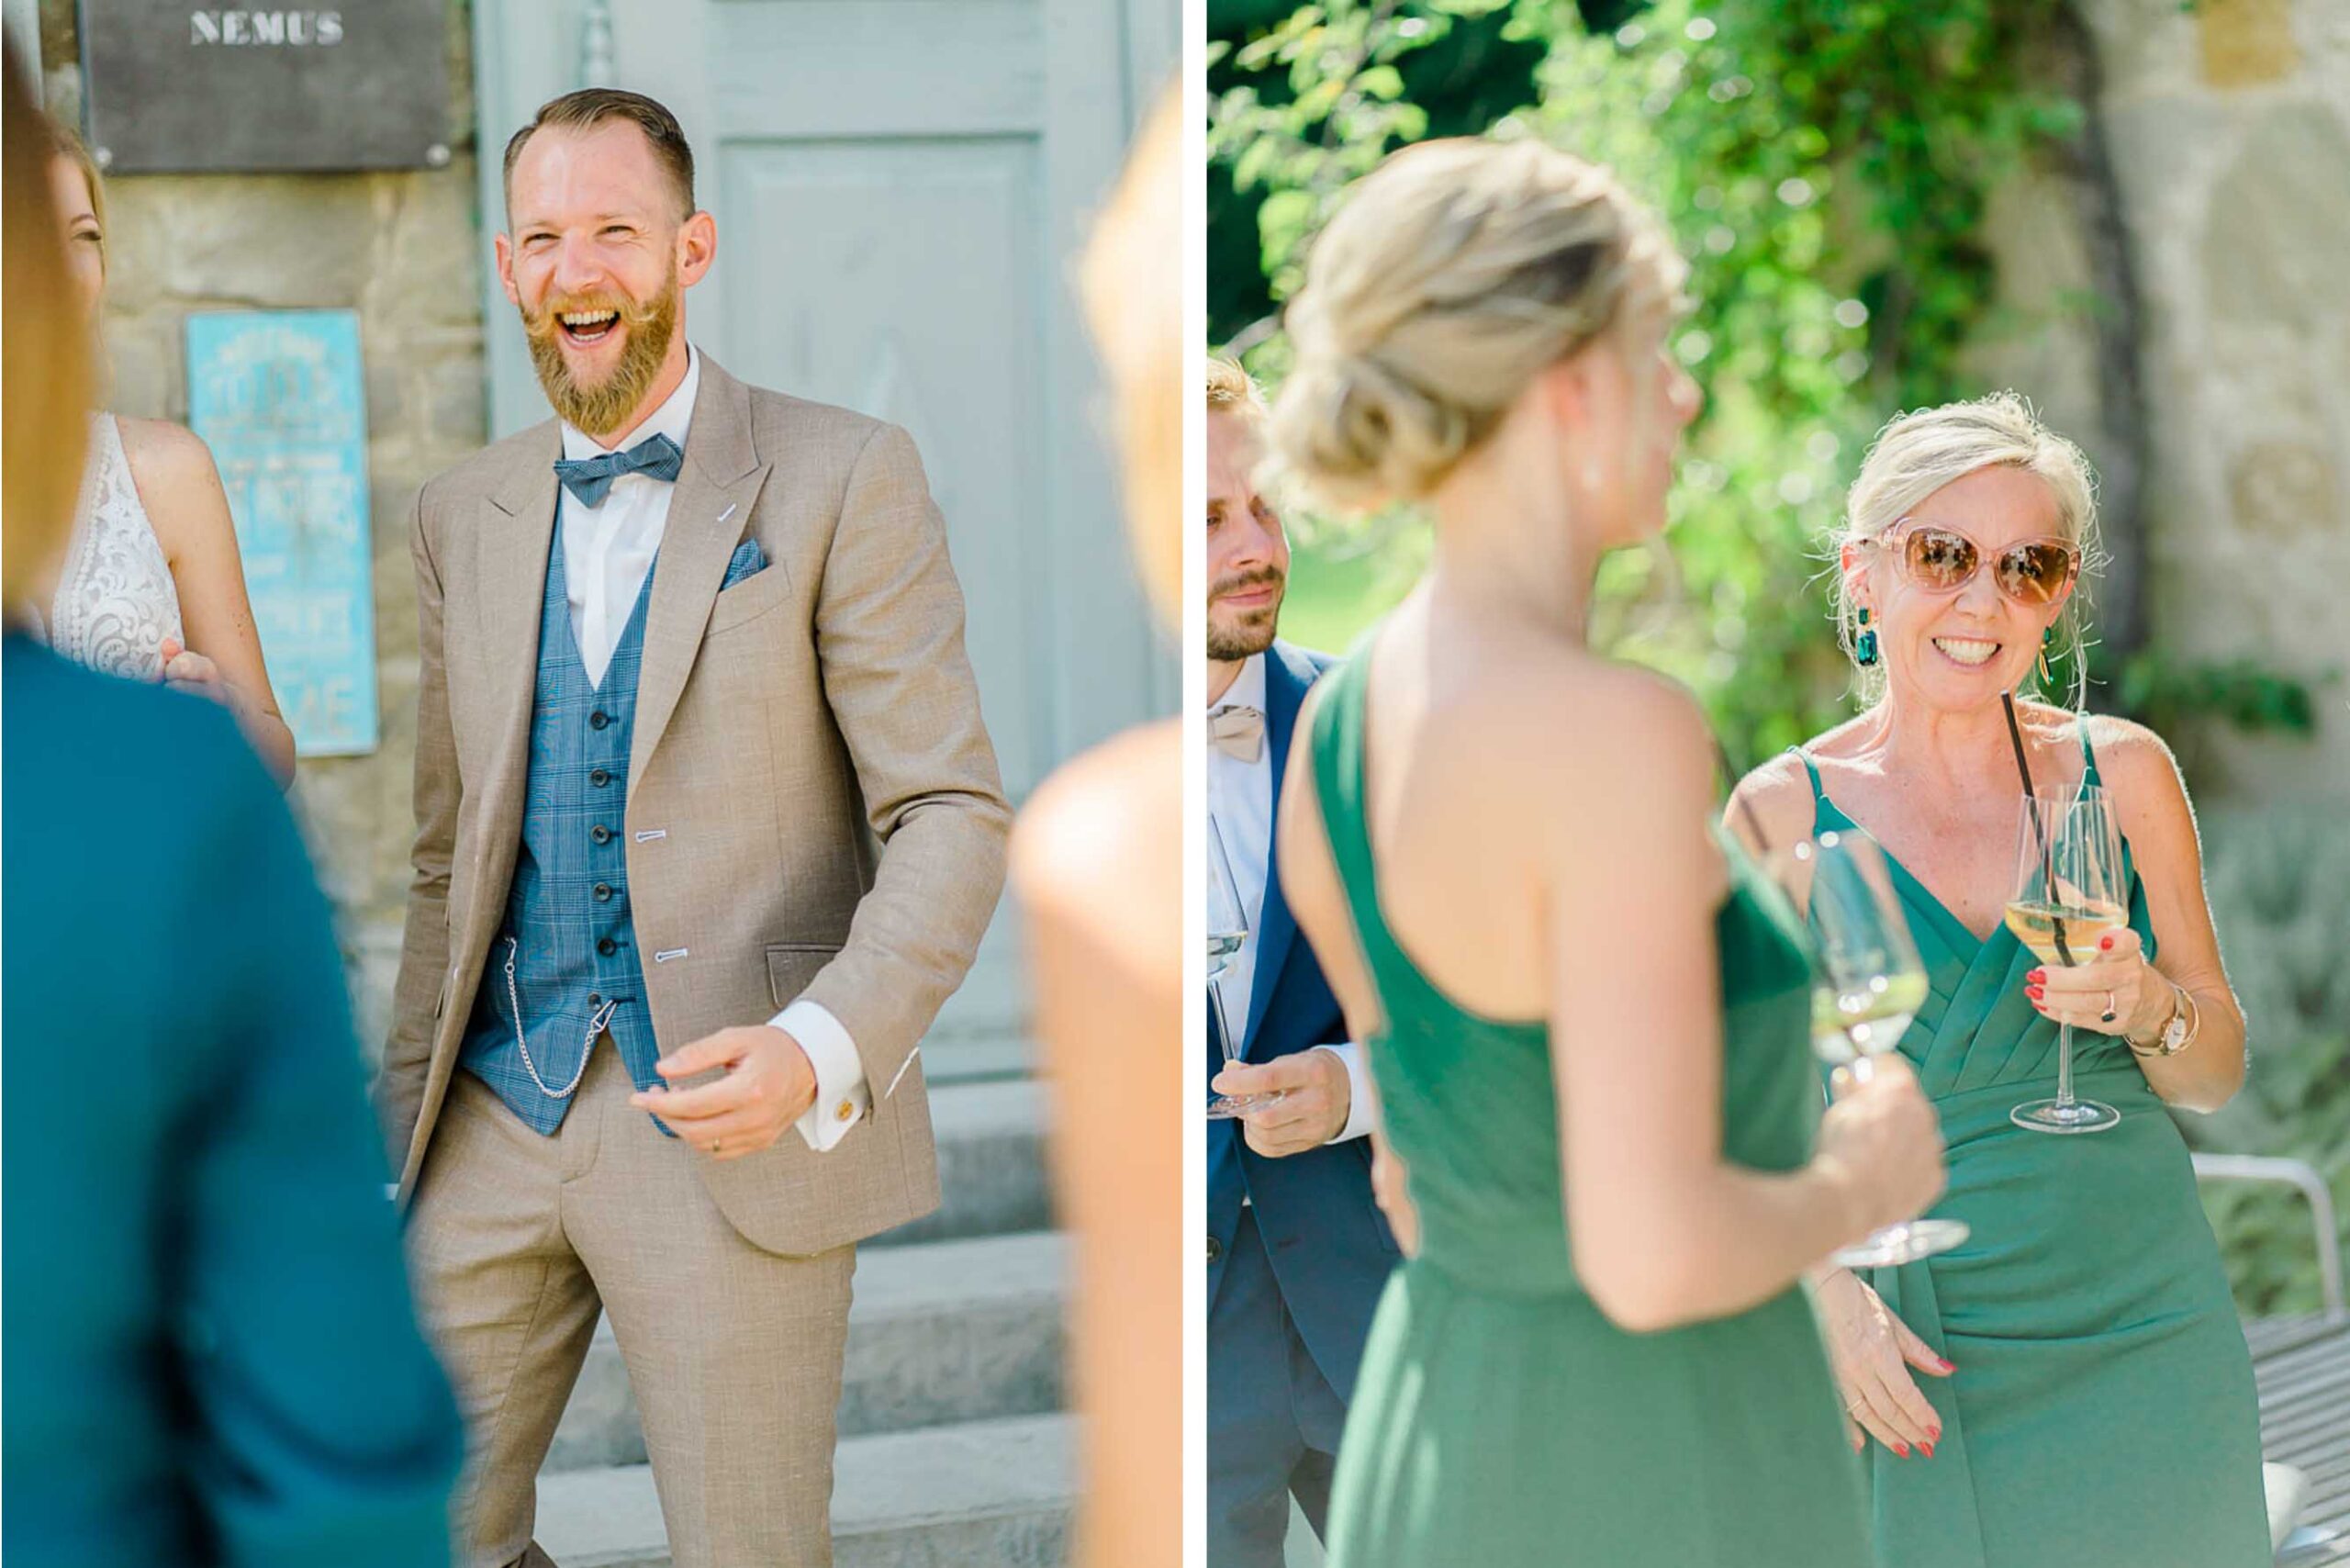
POLYGON ((89 442, 89 360, 49 190, 56 146, 16 49, 0 63, 0 604, 16 614, 73 529, 89 442))

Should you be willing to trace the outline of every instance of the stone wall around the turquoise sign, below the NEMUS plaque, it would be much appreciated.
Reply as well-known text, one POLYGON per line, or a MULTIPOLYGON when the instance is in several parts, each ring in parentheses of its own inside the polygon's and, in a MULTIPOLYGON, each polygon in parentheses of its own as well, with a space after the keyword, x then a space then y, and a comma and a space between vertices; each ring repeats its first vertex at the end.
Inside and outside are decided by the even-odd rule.
MULTIPOLYGON (((70 0, 45 0, 52 110, 80 120, 70 0)), ((367 465, 376 557, 381 743, 301 762, 294 802, 341 914, 362 1039, 383 1039, 414 818, 416 489, 482 447, 484 244, 475 195, 468 0, 449 0, 446 169, 402 174, 132 174, 108 181, 110 407, 188 418, 195 310, 350 308, 367 360, 367 465)))

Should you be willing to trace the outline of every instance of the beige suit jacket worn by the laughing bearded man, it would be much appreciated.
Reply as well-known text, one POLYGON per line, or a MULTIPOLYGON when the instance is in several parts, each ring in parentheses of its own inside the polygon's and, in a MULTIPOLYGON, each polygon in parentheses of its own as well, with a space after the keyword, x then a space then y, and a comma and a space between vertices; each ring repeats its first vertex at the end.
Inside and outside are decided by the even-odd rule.
MULTIPOLYGON (((416 875, 378 1079, 402 1201, 505 919, 559 456, 548 421, 416 498, 416 875)), ((914 442, 703 355, 627 762, 653 1037, 674 1051, 808 997, 872 1088, 822 1154, 790 1128, 733 1161, 677 1145, 750 1241, 818 1253, 938 1206, 916 1046, 994 912, 1008 827, 914 442), (768 564, 719 592, 743 538, 768 564)))

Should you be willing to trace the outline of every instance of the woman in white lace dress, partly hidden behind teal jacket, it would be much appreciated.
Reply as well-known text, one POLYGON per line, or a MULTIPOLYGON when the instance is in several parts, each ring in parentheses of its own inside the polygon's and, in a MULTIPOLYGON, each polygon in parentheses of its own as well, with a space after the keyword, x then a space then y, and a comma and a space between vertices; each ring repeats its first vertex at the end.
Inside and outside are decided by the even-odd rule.
MULTIPOLYGON (((73 306, 99 343, 106 303, 106 183, 54 120, 47 174, 66 219, 73 306)), ((78 665, 221 703, 280 788, 294 731, 277 712, 244 592, 237 529, 212 449, 162 418, 89 416, 89 465, 63 557, 35 583, 31 623, 78 665)))

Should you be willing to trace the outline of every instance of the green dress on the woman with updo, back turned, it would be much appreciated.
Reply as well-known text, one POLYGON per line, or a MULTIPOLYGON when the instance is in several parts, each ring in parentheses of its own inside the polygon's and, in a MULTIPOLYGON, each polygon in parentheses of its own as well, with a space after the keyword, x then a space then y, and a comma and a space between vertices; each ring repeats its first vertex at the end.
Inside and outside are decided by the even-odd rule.
MULTIPOLYGON (((1323 679, 1314 776, 1384 1011, 1368 1056, 1419 1255, 1389 1279, 1363 1352, 1332 1568, 1866 1568, 1859 1465, 1802 1291, 1638 1335, 1577 1281, 1549 1027, 1462 1009, 1379 917, 1365 663, 1323 679)), ((1819 1117, 1810 964, 1788 903, 1723 846, 1723 1143, 1788 1171, 1819 1117)))

